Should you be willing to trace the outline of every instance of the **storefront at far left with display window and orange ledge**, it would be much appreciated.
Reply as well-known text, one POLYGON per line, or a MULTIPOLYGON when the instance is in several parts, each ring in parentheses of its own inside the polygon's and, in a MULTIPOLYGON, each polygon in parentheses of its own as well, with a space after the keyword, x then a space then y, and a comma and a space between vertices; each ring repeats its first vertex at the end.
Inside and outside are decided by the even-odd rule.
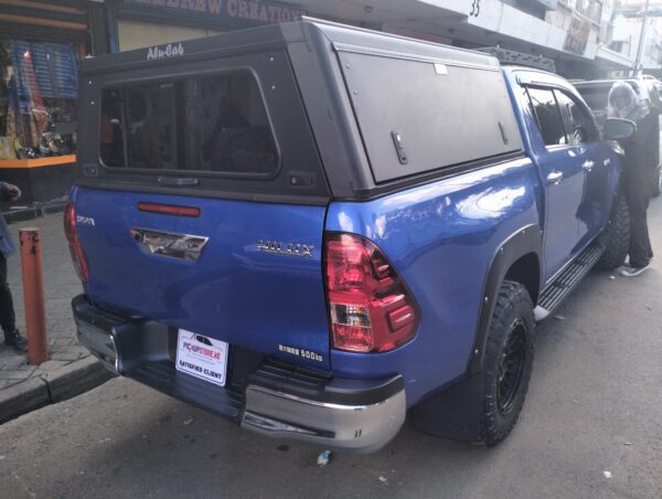
POLYGON ((76 161, 77 62, 104 51, 98 3, 0 0, 0 179, 22 203, 68 193, 76 161))

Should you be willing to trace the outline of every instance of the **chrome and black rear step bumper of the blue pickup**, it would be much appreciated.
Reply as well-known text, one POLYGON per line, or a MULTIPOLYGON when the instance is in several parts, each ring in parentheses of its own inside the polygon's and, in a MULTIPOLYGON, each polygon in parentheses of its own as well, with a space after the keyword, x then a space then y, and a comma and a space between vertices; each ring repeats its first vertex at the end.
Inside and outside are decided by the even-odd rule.
POLYGON ((72 306, 79 341, 106 368, 263 435, 369 453, 388 443, 405 421, 399 375, 327 378, 257 353, 239 355, 231 346, 228 380, 217 386, 177 370, 177 331, 108 312, 83 295, 72 306))

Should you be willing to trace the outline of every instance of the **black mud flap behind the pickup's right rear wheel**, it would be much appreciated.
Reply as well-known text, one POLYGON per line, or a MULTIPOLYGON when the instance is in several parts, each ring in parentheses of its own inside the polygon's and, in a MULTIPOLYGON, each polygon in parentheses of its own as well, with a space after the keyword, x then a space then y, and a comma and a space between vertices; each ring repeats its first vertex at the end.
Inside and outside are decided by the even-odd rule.
POLYGON ((409 411, 414 428, 449 440, 480 442, 482 380, 479 372, 419 402, 409 411))

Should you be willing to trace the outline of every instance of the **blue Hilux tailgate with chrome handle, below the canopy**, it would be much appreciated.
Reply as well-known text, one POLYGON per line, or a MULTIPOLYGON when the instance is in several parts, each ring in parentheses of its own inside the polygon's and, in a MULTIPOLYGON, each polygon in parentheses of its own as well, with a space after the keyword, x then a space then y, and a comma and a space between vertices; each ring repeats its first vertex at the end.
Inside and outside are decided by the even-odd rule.
POLYGON ((78 221, 88 222, 77 230, 90 301, 329 369, 324 206, 85 188, 74 197, 78 221), (139 203, 193 206, 200 215, 145 212, 139 203), (182 235, 200 237, 197 248, 206 238, 197 259, 194 251, 168 251, 182 235))

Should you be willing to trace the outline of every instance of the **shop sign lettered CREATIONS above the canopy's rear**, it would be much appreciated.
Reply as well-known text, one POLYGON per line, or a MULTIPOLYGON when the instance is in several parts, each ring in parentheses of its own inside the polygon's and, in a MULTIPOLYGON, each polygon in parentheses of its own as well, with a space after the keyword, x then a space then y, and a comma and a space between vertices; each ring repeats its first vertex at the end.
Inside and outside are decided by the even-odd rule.
POLYGON ((261 0, 125 0, 125 4, 217 20, 246 20, 267 24, 287 22, 306 14, 305 10, 261 0))

